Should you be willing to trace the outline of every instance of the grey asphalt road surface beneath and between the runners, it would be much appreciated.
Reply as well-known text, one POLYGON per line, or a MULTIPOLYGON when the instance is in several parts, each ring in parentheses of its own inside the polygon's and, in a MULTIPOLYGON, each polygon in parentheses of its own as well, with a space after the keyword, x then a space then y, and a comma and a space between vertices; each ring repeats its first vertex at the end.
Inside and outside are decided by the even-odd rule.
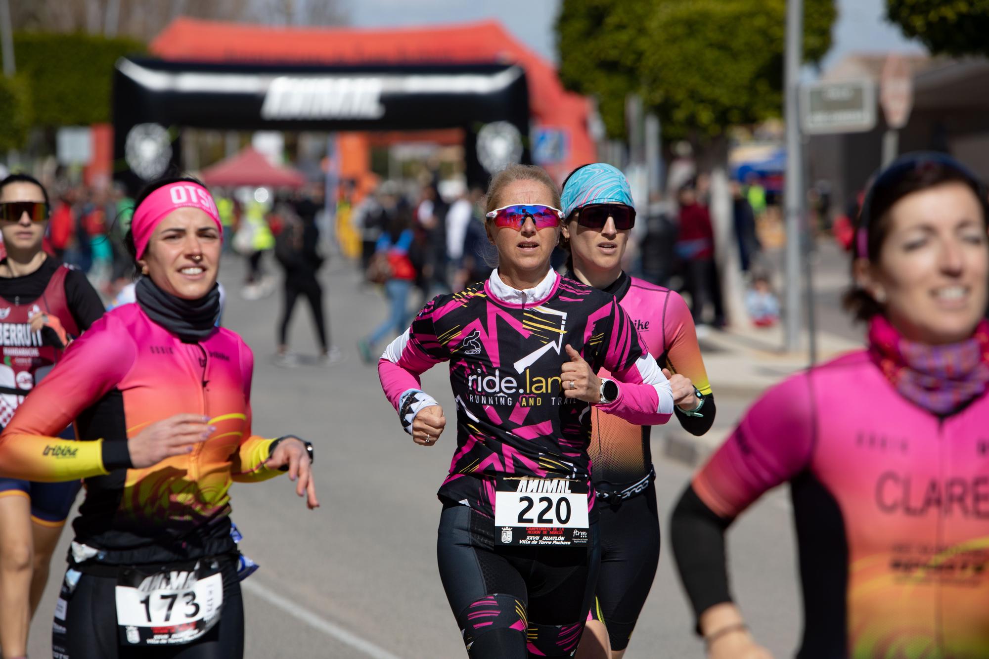
MULTIPOLYGON (((315 443, 322 503, 319 510, 308 511, 287 479, 233 486, 233 519, 245 538, 241 549, 261 565, 244 585, 246 656, 466 656, 435 558, 440 507, 434 495, 449 464, 453 433, 432 448, 414 445, 382 395, 377 372, 361 363, 354 349, 357 338, 384 318, 384 299, 375 289, 358 286, 352 268, 335 261, 324 272, 326 302, 333 340, 346 361, 280 368, 272 361, 278 295, 243 300, 241 272, 238 261, 225 263, 225 325, 254 349, 255 432, 292 432, 315 443)), ((308 309, 297 309, 292 343, 303 355, 315 355, 308 309)), ((441 368, 427 373, 424 389, 452 414, 444 375, 441 368)), ((737 416, 745 402, 725 403, 725 411, 737 416)), ((663 433, 654 437, 666 534, 670 509, 691 468, 663 457, 663 433)), ((777 657, 792 655, 800 629, 788 511, 785 491, 769 493, 729 534, 734 592, 757 637, 777 657)), ((32 627, 35 658, 50 655, 51 612, 68 535, 56 552, 32 627)), ((626 656, 701 657, 692 624, 664 547, 626 656)))

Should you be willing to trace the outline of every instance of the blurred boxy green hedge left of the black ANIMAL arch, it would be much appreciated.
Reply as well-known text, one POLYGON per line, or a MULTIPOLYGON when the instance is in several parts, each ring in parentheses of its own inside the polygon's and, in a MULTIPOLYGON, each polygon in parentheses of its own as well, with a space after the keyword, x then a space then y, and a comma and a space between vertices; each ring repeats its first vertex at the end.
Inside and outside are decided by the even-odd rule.
POLYGON ((30 86, 36 126, 86 126, 110 121, 114 63, 144 51, 132 39, 16 33, 14 59, 30 86))

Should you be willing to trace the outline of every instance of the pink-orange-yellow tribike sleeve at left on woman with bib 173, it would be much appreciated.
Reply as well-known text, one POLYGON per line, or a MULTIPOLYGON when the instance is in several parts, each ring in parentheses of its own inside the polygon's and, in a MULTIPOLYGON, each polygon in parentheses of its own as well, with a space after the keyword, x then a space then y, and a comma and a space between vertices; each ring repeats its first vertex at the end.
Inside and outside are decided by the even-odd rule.
POLYGON ((0 478, 55 483, 108 473, 101 439, 73 441, 56 435, 131 369, 135 345, 127 332, 112 329, 116 322, 104 317, 73 341, 18 407, 0 433, 0 478))

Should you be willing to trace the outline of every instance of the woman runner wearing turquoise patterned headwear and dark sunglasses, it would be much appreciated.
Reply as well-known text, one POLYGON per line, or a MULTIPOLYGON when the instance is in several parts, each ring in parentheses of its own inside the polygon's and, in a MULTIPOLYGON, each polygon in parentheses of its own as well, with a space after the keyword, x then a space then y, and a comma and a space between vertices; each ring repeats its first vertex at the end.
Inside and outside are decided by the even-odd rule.
MULTIPOLYGON (((615 296, 649 353, 668 369, 664 372, 680 425, 691 434, 703 434, 714 423, 714 397, 690 312, 674 291, 622 271, 635 226, 625 175, 601 162, 578 167, 564 181, 562 204, 567 214, 562 243, 570 252, 567 276, 615 296)), ((604 371, 600 375, 607 377, 604 371)), ((600 409, 591 411, 589 452, 600 512, 601 572, 578 657, 624 656, 656 576, 660 521, 650 429, 600 409)))

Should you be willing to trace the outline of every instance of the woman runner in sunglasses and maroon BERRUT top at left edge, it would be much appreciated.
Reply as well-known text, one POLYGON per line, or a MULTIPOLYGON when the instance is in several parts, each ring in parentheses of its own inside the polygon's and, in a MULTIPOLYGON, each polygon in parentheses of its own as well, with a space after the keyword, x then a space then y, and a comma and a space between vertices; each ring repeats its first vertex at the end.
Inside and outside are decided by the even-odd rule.
MULTIPOLYGON (((47 225, 48 196, 38 180, 12 174, 0 181, 7 248, 0 260, 0 426, 10 423, 66 344, 103 315, 86 276, 45 253, 47 225)), ((75 434, 68 427, 62 436, 75 434)), ((0 656, 27 652, 51 553, 80 486, 0 478, 0 656)))

